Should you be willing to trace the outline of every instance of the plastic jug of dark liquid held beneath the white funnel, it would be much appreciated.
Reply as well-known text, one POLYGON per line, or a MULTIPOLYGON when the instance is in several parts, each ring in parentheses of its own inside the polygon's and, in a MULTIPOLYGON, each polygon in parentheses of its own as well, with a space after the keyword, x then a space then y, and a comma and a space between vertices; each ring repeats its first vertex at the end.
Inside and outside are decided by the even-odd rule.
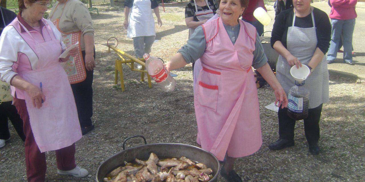
POLYGON ((288 116, 294 120, 308 117, 309 91, 302 83, 295 81, 295 86, 288 93, 288 116))

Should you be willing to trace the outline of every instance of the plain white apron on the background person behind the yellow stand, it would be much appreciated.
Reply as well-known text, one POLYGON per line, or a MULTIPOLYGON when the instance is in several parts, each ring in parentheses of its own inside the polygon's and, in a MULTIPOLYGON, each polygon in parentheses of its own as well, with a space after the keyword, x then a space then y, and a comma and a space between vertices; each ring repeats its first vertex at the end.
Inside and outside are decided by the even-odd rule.
POLYGON ((134 0, 130 9, 127 37, 155 36, 150 0, 134 0))

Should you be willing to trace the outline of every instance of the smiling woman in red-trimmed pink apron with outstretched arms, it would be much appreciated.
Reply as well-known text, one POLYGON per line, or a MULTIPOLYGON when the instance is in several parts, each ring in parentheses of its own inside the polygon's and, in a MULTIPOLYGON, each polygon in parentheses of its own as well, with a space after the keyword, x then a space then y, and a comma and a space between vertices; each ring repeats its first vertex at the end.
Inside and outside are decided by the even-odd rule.
POLYGON ((197 143, 224 161, 221 174, 241 181, 233 170, 236 158, 251 155, 262 145, 257 89, 251 66, 272 86, 276 102, 288 104, 267 63, 256 29, 238 18, 247 0, 222 0, 218 19, 195 29, 176 55, 165 64, 171 71, 201 60, 203 69, 194 92, 199 131, 197 143))

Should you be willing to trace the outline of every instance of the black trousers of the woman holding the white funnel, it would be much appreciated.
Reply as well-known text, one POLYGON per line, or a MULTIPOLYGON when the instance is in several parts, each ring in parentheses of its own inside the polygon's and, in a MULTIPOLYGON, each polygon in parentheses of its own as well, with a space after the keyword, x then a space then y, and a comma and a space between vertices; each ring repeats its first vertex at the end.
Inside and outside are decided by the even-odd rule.
MULTIPOLYGON (((322 112, 322 105, 308 110, 308 117, 304 119, 304 132, 309 144, 316 143, 319 140, 319 119, 322 112)), ((288 108, 279 107, 277 113, 279 120, 279 138, 294 139, 295 120, 287 114, 288 108)))

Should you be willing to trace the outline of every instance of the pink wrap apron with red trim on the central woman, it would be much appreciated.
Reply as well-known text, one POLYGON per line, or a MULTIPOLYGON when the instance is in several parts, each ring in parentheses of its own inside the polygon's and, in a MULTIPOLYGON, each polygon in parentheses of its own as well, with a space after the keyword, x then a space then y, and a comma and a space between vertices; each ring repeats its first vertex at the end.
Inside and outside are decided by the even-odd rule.
POLYGON ((260 112, 254 75, 254 27, 239 20, 239 36, 233 45, 220 18, 203 25, 207 48, 200 58, 194 92, 199 131, 197 142, 218 160, 244 157, 262 145, 260 112))

